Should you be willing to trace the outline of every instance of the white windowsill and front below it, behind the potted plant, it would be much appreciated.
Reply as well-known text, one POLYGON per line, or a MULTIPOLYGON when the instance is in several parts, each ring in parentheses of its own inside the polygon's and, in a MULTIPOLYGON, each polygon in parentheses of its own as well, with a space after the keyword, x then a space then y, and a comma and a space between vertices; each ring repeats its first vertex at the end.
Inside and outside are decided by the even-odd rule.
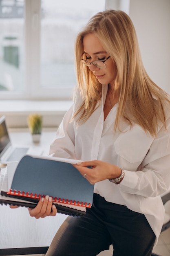
POLYGON ((1 100, 0 116, 5 115, 8 128, 25 128, 31 113, 43 116, 43 127, 58 127, 72 101, 1 100))

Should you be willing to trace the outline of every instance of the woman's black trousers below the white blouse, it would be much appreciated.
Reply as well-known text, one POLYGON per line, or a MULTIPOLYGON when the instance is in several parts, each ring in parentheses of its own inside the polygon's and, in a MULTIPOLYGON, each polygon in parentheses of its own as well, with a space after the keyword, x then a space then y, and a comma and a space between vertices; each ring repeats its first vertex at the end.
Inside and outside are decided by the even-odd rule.
POLYGON ((84 217, 64 221, 46 256, 96 256, 111 244, 114 256, 151 256, 154 243, 144 214, 94 194, 84 217))

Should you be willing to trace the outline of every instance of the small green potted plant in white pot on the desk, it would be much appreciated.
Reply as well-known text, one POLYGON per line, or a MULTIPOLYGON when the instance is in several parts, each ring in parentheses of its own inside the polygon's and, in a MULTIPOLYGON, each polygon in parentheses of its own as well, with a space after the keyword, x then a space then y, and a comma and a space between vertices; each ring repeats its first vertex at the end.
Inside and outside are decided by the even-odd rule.
POLYGON ((33 142, 40 142, 42 132, 42 116, 38 114, 29 115, 28 126, 31 131, 33 142))

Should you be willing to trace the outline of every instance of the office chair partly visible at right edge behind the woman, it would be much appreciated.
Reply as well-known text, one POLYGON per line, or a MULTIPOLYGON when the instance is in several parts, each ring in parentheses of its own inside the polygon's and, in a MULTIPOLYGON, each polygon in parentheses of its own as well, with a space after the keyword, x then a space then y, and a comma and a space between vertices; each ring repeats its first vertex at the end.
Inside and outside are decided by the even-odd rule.
MULTIPOLYGON (((165 217, 164 217, 164 222, 161 229, 161 232, 163 232, 164 230, 170 227, 170 192, 167 193, 166 195, 163 195, 161 198, 162 198, 163 205, 165 207, 165 217)), ((152 256, 159 256, 159 255, 152 253, 152 256)))

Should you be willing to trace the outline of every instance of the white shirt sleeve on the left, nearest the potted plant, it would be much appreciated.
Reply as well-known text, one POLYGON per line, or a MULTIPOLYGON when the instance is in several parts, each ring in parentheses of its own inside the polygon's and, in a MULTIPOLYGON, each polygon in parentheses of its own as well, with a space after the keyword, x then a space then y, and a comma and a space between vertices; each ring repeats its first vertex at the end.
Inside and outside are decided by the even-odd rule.
POLYGON ((72 115, 73 106, 64 115, 62 123, 56 132, 50 146, 50 156, 76 159, 74 127, 73 122, 71 122, 72 115))

